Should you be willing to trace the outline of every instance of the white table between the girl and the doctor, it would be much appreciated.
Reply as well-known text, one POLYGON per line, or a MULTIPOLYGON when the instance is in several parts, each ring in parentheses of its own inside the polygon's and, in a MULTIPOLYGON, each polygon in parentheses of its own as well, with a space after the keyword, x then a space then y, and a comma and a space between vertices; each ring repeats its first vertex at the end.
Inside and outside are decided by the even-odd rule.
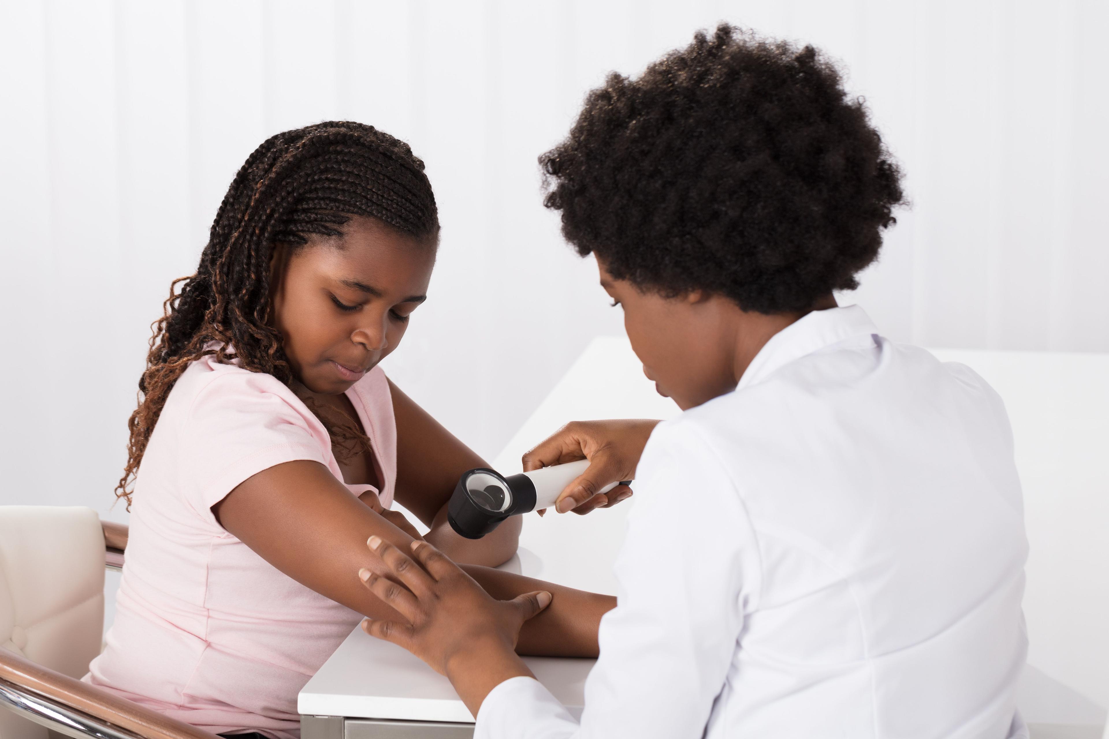
MULTIPOLYGON (((1100 739, 1109 699, 1109 356, 937 350, 979 371, 1006 399, 1025 485, 1031 658, 1018 704, 1035 739, 1100 739), (1060 484, 1060 481, 1062 483, 1060 484), (1099 493, 1103 493, 1099 495, 1099 493), (1069 536, 1074 516, 1081 541, 1069 536), (1091 531, 1100 526, 1102 535, 1091 531), (1069 528, 1068 528, 1069 527, 1069 528), (1097 550, 1092 556, 1090 547, 1097 550), (1105 558, 1099 557, 1105 554, 1105 558), (1092 558, 1091 558, 1092 557, 1092 558), (1068 577, 1061 578, 1059 568, 1068 577), (1102 573, 1099 581, 1097 573, 1102 573), (1065 581, 1060 585, 1060 581, 1065 581), (1072 587, 1066 585, 1071 583, 1072 587), (1068 640, 1067 635, 1072 635, 1068 640), (1075 636, 1077 635, 1077 636, 1075 636), (1041 638, 1040 638, 1041 637, 1041 638), (1076 646, 1077 645, 1077 646, 1076 646), (1085 649, 1085 659, 1077 654, 1085 649), (1057 679, 1058 678, 1058 679, 1057 679), (1106 691, 1100 692, 1101 680, 1106 691), (1076 690, 1075 687, 1081 689, 1076 690), (1085 692, 1086 695, 1082 695, 1085 692)), ((594 340, 505 451, 499 471, 520 470, 531 445, 571 420, 671 418, 624 338, 594 340)), ((614 593, 611 563, 631 501, 587 516, 529 514, 507 567, 532 577, 614 593)), ((536 676, 580 712, 586 659, 528 658, 536 676)), ((407 651, 356 629, 301 691, 304 739, 470 737, 472 717, 450 684, 407 651)))

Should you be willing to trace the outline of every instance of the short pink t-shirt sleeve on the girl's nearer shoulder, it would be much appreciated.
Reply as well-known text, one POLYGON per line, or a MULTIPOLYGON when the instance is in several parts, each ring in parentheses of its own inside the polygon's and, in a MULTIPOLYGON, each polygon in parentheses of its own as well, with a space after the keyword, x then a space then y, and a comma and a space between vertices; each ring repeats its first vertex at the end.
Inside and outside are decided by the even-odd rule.
POLYGON ((218 368, 185 419, 179 470, 187 503, 204 517, 244 480, 283 462, 328 464, 323 424, 271 374, 218 368))

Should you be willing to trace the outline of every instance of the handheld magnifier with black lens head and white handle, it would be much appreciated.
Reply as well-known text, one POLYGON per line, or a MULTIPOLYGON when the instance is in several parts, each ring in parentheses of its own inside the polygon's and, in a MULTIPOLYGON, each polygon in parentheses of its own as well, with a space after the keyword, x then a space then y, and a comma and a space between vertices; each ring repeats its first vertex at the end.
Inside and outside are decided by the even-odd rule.
MULTIPOLYGON (((447 521, 460 536, 481 538, 508 516, 553 507, 559 494, 588 466, 589 460, 579 460, 508 478, 488 468, 469 470, 455 485, 447 521)), ((600 492, 630 482, 614 482, 600 492)))

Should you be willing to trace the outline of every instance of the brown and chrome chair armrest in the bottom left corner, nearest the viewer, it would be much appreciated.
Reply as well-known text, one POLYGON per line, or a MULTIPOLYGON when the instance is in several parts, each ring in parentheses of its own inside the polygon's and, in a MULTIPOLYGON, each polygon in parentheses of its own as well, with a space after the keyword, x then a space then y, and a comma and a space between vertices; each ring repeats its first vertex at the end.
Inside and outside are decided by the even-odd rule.
POLYGON ((6 649, 0 649, 0 680, 145 739, 218 739, 214 733, 35 665, 6 649))

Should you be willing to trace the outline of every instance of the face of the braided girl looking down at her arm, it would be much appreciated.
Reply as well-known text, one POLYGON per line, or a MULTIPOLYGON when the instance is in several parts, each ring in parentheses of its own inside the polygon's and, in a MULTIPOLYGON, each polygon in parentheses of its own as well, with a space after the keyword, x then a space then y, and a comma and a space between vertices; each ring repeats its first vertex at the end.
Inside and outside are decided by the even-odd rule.
POLYGON ((274 250, 273 325, 308 390, 338 394, 389 355, 427 298, 436 240, 355 216, 343 236, 274 250))

